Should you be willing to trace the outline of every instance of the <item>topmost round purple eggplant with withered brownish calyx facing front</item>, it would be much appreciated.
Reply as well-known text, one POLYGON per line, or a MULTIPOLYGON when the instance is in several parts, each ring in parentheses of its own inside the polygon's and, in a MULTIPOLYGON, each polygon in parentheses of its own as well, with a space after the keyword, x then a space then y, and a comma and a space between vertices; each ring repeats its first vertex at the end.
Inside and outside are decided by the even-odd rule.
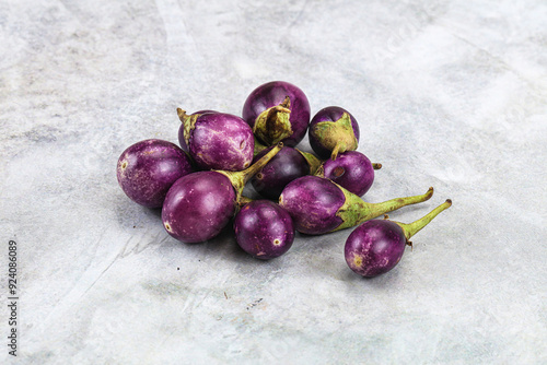
POLYGON ((310 103, 295 85, 272 81, 255 89, 243 106, 243 119, 266 145, 295 146, 310 123, 310 103))

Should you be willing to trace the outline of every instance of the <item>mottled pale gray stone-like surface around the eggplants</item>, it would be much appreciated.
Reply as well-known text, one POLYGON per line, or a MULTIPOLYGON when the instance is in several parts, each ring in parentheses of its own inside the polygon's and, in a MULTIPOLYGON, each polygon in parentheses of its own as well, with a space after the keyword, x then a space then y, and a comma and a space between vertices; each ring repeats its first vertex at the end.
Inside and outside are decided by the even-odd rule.
POLYGON ((547 363, 544 0, 4 0, 0 44, 0 362, 14 239, 23 364, 547 363), (118 188, 176 107, 271 80, 356 116, 365 200, 435 187, 393 219, 453 199, 389 273, 349 270, 351 229, 179 244, 118 188))

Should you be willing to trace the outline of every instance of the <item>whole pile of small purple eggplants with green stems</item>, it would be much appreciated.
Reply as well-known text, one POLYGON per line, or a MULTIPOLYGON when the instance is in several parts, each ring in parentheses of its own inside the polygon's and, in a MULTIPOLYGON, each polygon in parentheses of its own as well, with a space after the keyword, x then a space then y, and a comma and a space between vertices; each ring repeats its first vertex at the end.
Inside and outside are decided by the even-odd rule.
POLYGON ((393 269, 410 237, 452 203, 409 224, 388 220, 386 213, 430 199, 433 188, 362 200, 382 165, 357 151, 358 121, 338 106, 311 118, 307 97, 288 82, 255 89, 241 117, 181 108, 177 115, 178 145, 158 139, 132 144, 118 158, 117 179, 132 201, 161 208, 166 232, 183 243, 211 239, 232 222, 240 247, 267 260, 286 254, 296 231, 323 235, 357 226, 345 258, 371 278, 393 269), (306 132, 313 153, 296 148, 306 132), (243 196, 247 182, 260 199, 243 196))

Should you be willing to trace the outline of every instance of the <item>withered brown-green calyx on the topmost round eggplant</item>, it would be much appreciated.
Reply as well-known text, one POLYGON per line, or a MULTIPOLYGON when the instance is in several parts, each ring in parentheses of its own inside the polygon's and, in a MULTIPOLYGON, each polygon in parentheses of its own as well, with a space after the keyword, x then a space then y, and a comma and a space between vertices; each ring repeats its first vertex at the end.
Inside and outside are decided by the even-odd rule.
POLYGON ((289 120, 290 107, 291 101, 287 96, 283 103, 260 113, 253 127, 253 133, 266 145, 277 144, 279 141, 292 136, 289 120))

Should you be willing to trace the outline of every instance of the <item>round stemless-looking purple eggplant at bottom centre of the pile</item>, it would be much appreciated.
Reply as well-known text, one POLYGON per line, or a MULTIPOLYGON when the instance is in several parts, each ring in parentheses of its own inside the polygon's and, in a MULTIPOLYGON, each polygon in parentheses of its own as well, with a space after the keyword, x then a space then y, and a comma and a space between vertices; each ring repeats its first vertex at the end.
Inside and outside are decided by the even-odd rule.
POLYGON ((269 200, 255 200, 245 204, 235 215, 234 231, 240 247, 263 260, 283 255, 294 240, 291 216, 269 200))

